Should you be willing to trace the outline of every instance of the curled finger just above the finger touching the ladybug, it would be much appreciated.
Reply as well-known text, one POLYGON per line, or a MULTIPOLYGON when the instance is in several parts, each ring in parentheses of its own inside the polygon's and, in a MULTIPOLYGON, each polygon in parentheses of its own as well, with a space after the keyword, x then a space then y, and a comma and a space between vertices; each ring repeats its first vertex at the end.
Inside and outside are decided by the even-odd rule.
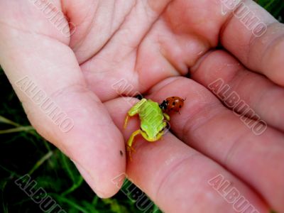
POLYGON ((246 70, 229 53, 222 50, 208 53, 192 70, 192 79, 210 89, 226 107, 239 114, 258 116, 258 119, 284 131, 283 87, 246 70), (239 107, 241 102, 249 107, 239 107))

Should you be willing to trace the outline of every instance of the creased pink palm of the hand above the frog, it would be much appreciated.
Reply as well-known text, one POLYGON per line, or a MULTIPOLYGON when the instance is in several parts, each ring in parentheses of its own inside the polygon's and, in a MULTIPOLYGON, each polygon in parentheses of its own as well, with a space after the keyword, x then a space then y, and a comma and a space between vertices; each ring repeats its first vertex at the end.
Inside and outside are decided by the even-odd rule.
MULTIPOLYGON (((120 16, 109 20, 104 17, 108 20, 104 23, 95 16, 92 21, 86 21, 91 30, 78 31, 72 38, 88 85, 102 101, 117 97, 111 86, 121 79, 133 86, 134 93, 146 92, 166 77, 185 75, 187 67, 217 45, 221 23, 214 21, 217 19, 214 13, 204 15, 202 11, 206 9, 200 8, 200 3, 118 4, 121 10, 127 7, 116 11, 120 16), (84 42, 80 43, 81 40, 84 42)), ((211 8, 212 2, 204 5, 211 8)))

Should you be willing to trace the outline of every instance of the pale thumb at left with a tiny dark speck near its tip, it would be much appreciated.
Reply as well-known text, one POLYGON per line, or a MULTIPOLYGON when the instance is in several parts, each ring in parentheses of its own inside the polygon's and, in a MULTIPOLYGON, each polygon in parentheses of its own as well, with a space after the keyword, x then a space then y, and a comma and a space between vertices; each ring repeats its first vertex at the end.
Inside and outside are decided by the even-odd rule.
MULTIPOLYGON (((9 2, 18 11, 29 11, 27 3, 9 2)), ((26 19, 41 21, 40 17, 26 19)), ((14 17, 7 20, 13 22, 14 17)), ((33 24, 41 26, 38 21, 33 24)), ((56 28, 51 32, 43 25, 38 31, 45 33, 1 24, 1 66, 35 129, 75 162, 100 197, 114 195, 119 189, 111 178, 125 170, 121 133, 104 105, 87 89, 72 50, 63 40, 47 36, 55 34, 56 28)))

